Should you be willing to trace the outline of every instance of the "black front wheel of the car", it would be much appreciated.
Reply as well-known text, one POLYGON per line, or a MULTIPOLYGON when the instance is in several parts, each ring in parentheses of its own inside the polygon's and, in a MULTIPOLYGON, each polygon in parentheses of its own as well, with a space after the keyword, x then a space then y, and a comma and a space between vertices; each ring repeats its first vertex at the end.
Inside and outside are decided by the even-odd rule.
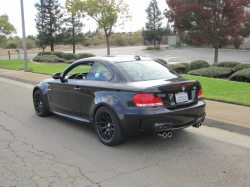
POLYGON ((40 90, 36 90, 33 96, 34 108, 36 114, 40 117, 47 116, 49 114, 46 104, 40 90))

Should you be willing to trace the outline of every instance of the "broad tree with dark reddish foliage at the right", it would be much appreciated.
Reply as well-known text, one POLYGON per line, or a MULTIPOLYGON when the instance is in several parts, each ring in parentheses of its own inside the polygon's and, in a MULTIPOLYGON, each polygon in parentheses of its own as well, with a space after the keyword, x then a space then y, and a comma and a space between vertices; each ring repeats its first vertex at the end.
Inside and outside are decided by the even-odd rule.
POLYGON ((214 64, 218 63, 219 46, 233 43, 238 46, 242 42, 247 0, 166 0, 166 3, 169 9, 164 14, 174 22, 175 34, 187 44, 212 45, 214 64))

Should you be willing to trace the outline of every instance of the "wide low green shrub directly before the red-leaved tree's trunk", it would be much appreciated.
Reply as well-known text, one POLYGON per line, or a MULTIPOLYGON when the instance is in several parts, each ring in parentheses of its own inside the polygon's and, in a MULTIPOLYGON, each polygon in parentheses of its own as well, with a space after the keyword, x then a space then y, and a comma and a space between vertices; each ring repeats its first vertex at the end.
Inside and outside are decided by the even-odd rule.
POLYGON ((232 72, 231 68, 210 67, 189 71, 188 74, 202 77, 228 78, 232 72))

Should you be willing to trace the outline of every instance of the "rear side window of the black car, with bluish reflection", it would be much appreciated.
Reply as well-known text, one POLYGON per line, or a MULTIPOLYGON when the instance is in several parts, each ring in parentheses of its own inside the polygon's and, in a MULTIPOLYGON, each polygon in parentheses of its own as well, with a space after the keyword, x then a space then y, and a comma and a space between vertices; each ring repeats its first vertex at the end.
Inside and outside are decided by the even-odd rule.
POLYGON ((109 81, 112 74, 100 62, 95 62, 94 67, 90 70, 87 80, 109 81))

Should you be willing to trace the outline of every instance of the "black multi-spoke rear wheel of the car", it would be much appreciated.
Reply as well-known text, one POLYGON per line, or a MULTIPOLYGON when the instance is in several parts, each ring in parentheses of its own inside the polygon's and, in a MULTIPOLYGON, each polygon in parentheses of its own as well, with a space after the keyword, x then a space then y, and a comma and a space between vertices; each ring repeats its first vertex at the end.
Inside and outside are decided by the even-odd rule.
POLYGON ((101 142, 113 146, 124 141, 119 122, 108 107, 101 107, 95 115, 95 128, 101 142))

